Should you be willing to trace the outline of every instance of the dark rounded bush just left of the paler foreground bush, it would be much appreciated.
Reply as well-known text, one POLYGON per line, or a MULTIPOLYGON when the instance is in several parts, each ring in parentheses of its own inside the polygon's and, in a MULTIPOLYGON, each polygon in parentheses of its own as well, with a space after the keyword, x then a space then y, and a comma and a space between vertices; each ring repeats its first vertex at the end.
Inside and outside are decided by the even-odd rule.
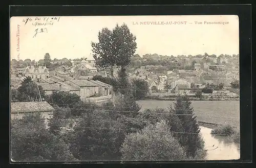
POLYGON ((65 136, 70 137, 70 150, 79 160, 118 160, 124 139, 120 125, 108 113, 94 111, 83 115, 74 131, 65 136))

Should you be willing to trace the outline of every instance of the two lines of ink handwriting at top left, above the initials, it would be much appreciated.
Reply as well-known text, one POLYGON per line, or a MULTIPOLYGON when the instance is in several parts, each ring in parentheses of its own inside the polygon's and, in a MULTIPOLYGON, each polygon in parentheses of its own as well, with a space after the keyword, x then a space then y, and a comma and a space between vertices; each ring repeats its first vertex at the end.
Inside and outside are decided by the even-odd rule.
POLYGON ((35 27, 38 26, 52 26, 55 22, 58 22, 60 17, 28 17, 23 19, 24 25, 32 24, 35 27))

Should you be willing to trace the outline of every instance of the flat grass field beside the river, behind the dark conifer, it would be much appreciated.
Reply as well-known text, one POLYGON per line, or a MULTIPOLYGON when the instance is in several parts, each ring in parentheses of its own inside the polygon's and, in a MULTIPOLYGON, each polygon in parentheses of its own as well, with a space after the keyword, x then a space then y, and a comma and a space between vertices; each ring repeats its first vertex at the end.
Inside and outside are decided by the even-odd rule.
MULTIPOLYGON (((168 108, 174 101, 141 100, 141 110, 147 108, 168 108)), ((192 101, 194 112, 199 122, 214 124, 230 124, 240 128, 240 102, 239 101, 192 101)))

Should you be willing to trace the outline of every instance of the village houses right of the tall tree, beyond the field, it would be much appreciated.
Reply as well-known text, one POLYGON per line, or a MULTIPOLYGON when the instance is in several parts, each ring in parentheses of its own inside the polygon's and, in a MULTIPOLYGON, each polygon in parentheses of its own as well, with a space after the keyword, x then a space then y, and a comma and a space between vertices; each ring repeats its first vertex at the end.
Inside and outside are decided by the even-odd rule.
POLYGON ((239 80, 239 71, 218 72, 211 69, 175 69, 174 71, 167 71, 166 74, 156 75, 152 71, 138 69, 130 77, 146 80, 151 91, 153 91, 153 88, 157 88, 158 91, 165 92, 166 85, 168 85, 168 91, 170 92, 189 93, 191 88, 202 89, 207 84, 218 86, 222 83, 224 84, 223 89, 229 89, 231 88, 231 82, 239 80))

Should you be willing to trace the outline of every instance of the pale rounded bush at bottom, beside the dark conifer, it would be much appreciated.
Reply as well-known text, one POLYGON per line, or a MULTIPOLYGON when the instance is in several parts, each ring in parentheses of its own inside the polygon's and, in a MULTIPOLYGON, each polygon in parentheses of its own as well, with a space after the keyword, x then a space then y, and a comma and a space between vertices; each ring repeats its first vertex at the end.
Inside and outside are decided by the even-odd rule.
POLYGON ((184 160, 185 151, 164 123, 149 125, 125 136, 121 147, 123 160, 184 160))

